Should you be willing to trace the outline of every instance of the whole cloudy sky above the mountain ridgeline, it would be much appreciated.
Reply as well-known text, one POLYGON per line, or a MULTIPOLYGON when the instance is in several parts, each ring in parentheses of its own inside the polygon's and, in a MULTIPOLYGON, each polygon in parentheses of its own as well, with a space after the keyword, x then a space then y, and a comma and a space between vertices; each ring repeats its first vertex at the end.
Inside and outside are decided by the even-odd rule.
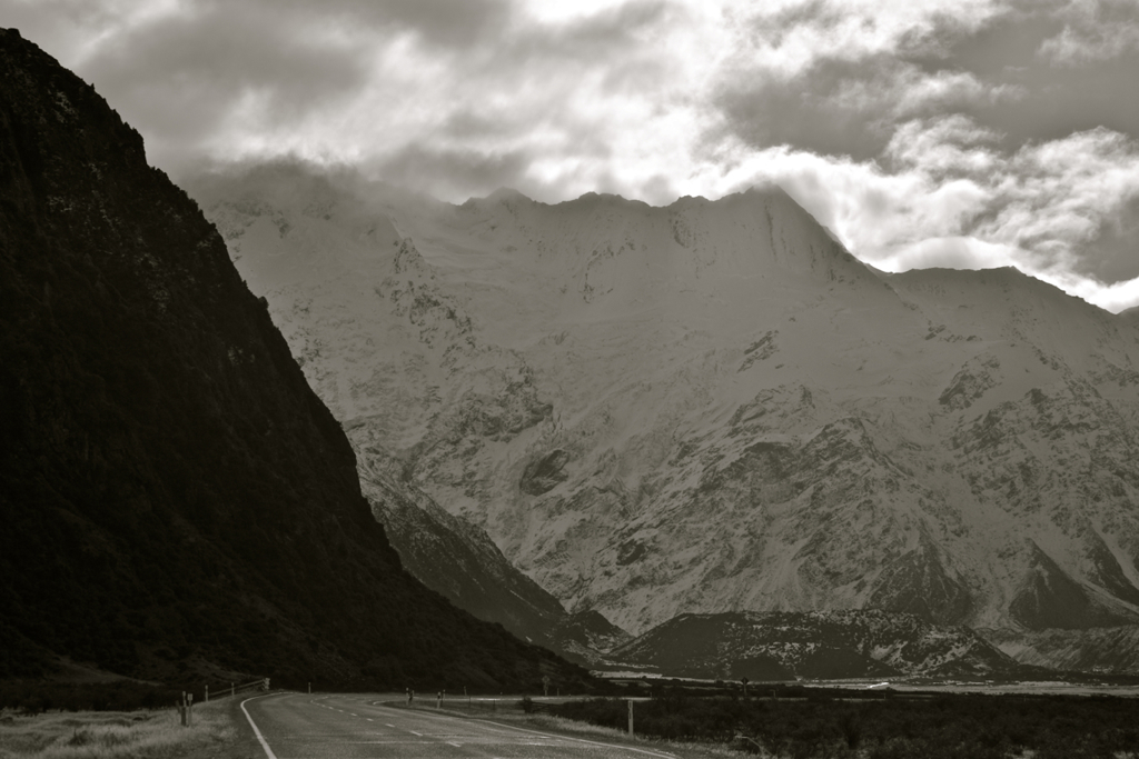
POLYGON ((1139 305, 1139 0, 0 0, 175 181, 300 156, 461 201, 775 181, 891 271, 1139 305))

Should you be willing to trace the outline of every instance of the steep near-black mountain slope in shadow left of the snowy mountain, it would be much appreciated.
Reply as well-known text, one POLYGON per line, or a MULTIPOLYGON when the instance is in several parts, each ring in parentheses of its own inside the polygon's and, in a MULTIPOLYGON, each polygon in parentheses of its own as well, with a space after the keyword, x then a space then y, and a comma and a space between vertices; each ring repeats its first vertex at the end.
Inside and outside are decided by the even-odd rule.
POLYGON ((344 434, 214 228, 15 31, 0 356, 0 676, 49 652, 154 678, 583 674, 401 569, 344 434))

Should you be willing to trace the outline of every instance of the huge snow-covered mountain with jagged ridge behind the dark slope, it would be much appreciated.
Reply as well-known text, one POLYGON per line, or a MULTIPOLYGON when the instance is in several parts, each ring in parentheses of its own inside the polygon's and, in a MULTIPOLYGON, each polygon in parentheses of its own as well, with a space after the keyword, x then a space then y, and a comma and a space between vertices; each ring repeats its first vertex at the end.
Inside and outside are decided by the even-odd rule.
MULTIPOLYGON (((781 190, 190 185, 317 393, 572 610, 1139 621, 1139 322, 885 274, 781 190)), ((383 454, 383 456, 380 456, 383 454)))

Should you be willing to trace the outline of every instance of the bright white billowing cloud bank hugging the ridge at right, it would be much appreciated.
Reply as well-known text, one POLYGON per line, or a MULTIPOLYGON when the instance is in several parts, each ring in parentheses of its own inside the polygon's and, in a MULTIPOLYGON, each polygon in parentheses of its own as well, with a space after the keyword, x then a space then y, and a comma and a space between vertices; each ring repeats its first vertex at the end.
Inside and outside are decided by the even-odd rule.
POLYGON ((1113 311, 1139 303, 1136 280, 1105 284, 1084 265, 1103 226, 1139 198, 1139 145, 1099 129, 1007 155, 998 139, 962 116, 908 122, 890 143, 893 171, 737 143, 732 171, 716 172, 721 158, 682 189, 773 181, 880 269, 1015 265, 1113 311))

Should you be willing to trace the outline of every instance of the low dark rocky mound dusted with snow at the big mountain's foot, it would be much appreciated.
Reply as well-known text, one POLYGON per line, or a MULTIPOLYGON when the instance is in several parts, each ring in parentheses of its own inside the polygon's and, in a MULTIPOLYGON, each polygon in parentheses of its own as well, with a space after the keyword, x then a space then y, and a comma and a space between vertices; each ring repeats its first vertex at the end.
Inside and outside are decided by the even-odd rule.
POLYGON ((680 614, 613 657, 670 675, 751 680, 1032 674, 968 628, 880 610, 680 614))

